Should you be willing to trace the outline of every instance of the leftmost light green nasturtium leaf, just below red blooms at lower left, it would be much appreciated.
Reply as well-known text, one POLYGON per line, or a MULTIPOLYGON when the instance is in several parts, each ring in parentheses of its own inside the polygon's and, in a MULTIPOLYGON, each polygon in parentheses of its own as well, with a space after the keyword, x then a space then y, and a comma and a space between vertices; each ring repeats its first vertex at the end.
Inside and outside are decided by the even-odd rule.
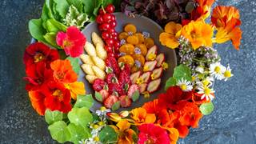
POLYGON ((54 110, 54 111, 51 111, 49 109, 46 110, 45 119, 49 125, 53 124, 54 122, 62 121, 62 118, 63 118, 62 112, 58 110, 54 110))

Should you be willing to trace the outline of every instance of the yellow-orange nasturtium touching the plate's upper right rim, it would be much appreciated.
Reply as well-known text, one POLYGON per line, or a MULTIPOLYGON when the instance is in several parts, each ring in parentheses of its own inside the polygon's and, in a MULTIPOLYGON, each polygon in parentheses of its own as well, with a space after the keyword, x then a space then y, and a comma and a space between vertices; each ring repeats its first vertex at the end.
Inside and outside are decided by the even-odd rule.
POLYGON ((178 31, 182 29, 182 25, 174 22, 169 22, 165 26, 165 32, 160 34, 159 41, 163 46, 175 49, 178 47, 178 31))

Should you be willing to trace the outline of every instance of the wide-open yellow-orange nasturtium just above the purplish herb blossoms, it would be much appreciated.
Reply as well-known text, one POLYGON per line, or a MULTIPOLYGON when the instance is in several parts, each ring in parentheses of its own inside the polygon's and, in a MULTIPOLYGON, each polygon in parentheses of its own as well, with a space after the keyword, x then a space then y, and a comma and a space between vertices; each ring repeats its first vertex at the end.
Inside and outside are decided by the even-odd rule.
POLYGON ((202 21, 191 21, 182 27, 182 36, 187 38, 194 50, 200 46, 212 46, 213 28, 202 21))

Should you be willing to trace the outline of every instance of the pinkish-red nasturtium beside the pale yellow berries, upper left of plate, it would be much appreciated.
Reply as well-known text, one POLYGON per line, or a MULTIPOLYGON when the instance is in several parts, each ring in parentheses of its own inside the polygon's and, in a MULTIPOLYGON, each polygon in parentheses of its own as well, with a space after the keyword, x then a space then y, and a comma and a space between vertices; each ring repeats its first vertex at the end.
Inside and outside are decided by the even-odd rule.
POLYGON ((66 55, 76 58, 83 53, 86 37, 77 27, 70 26, 66 29, 66 33, 58 32, 56 42, 65 50, 66 55))

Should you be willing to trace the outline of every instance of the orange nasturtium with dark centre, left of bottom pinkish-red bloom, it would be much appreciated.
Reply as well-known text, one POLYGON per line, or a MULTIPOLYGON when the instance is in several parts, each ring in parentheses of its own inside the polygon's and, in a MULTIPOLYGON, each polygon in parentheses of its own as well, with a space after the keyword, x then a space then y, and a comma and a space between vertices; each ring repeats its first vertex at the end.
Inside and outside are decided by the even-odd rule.
POLYGON ((122 119, 116 126, 112 126, 118 133, 118 143, 120 144, 132 144, 134 143, 133 136, 136 135, 135 131, 130 129, 130 122, 126 119, 122 119), (117 127, 116 127, 117 126, 117 127))

